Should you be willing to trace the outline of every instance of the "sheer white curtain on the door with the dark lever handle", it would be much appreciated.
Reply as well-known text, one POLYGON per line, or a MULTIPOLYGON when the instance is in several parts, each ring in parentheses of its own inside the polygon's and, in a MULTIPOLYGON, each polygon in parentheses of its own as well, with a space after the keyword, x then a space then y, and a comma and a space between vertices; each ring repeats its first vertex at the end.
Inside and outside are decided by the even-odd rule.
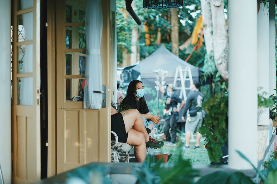
POLYGON ((100 46, 102 38, 102 7, 100 0, 88 0, 86 8, 86 72, 84 109, 99 109, 102 106, 102 64, 100 46))

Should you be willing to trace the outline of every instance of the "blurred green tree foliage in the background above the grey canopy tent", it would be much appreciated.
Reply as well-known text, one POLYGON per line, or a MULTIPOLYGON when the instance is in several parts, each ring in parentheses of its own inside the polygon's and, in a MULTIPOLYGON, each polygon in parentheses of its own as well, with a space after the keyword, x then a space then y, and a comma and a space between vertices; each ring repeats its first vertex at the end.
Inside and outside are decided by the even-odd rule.
MULTIPOLYGON (((161 34, 161 44, 168 50, 171 50, 171 22, 170 9, 143 9, 141 1, 133 1, 132 7, 142 20, 141 25, 137 25, 129 13, 125 9, 125 1, 117 1, 117 61, 122 63, 122 49, 131 52, 131 31, 135 27, 139 30, 139 46, 140 60, 152 54, 160 45, 157 44, 158 32, 161 34), (127 12, 127 18, 124 17, 124 11, 127 12), (145 26, 148 32, 145 32, 145 26), (145 34, 150 35, 150 44, 145 44, 145 34)), ((201 14, 200 1, 184 0, 184 6, 178 7, 178 25, 179 25, 179 44, 183 44, 193 32, 196 19, 201 14)), ((125 12, 125 13, 126 13, 125 12)), ((185 60, 192 52, 193 46, 189 46, 185 50, 179 50, 179 57, 185 60)), ((198 52, 193 52, 188 63, 202 67, 204 65, 205 47, 198 52)))

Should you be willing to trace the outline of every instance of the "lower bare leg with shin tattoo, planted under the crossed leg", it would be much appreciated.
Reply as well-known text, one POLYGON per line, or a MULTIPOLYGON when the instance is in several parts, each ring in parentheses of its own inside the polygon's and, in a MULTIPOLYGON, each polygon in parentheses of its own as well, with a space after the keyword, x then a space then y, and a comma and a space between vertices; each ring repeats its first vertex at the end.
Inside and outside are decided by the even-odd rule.
POLYGON ((137 130, 130 129, 128 132, 127 144, 134 145, 134 154, 138 162, 145 161, 146 145, 144 135, 137 130))

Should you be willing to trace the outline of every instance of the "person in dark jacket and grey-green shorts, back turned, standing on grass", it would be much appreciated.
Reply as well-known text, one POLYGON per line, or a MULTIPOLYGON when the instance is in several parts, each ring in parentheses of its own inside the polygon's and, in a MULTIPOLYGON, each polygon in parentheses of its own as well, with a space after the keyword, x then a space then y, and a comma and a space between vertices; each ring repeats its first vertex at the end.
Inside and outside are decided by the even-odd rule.
POLYGON ((186 105, 184 106, 184 114, 182 120, 185 121, 185 116, 187 114, 185 131, 186 131, 186 142, 183 148, 189 148, 189 140, 191 138, 191 132, 196 132, 196 143, 193 148, 199 148, 199 143, 201 139, 201 134, 198 129, 202 125, 202 102, 203 94, 198 90, 200 84, 198 81, 193 81, 190 88, 192 89, 187 97, 186 105))

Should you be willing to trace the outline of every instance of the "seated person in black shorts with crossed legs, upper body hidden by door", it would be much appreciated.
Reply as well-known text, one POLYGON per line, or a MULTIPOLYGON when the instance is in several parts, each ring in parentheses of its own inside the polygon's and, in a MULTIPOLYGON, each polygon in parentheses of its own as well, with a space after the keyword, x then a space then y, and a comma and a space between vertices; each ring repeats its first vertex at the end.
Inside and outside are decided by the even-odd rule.
POLYGON ((134 154, 138 162, 145 160, 146 147, 157 149, 163 146, 162 141, 157 141, 148 135, 140 113, 136 109, 118 113, 111 107, 111 130, 117 134, 119 142, 135 146, 134 154))

